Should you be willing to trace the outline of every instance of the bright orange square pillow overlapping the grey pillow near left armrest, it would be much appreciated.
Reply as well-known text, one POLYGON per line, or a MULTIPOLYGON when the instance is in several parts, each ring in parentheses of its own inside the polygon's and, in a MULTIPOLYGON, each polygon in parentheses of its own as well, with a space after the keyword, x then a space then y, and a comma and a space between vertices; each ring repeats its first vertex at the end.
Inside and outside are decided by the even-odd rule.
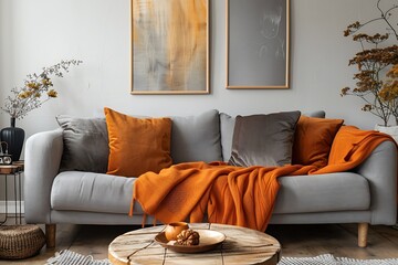
POLYGON ((108 174, 138 177, 171 166, 170 118, 135 118, 104 108, 109 138, 108 174))

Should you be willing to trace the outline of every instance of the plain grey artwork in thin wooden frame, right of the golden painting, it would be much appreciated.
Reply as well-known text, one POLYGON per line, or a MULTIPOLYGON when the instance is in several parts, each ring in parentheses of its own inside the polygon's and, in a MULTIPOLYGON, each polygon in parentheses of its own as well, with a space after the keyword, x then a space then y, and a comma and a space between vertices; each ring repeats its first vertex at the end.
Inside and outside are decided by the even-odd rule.
POLYGON ((290 0, 227 1, 227 88, 289 88, 290 0))

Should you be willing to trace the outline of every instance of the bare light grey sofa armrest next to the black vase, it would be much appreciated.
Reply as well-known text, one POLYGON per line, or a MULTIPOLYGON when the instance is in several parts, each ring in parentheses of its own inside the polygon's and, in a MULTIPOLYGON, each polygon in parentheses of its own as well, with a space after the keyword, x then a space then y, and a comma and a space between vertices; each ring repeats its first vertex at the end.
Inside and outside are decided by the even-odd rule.
POLYGON ((27 223, 51 223, 51 188, 60 171, 62 130, 32 135, 25 144, 24 218, 27 223))

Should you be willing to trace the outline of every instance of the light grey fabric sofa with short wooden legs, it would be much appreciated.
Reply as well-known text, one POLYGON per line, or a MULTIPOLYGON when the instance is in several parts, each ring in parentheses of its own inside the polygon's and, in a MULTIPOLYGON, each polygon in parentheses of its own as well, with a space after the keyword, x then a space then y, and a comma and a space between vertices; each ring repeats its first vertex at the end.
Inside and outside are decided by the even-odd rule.
MULTIPOLYGON (((314 115, 324 116, 324 113, 314 115)), ((174 163, 228 161, 233 117, 209 110, 171 119, 174 163)), ((136 179, 106 174, 103 172, 106 165, 98 165, 101 159, 106 161, 107 153, 100 150, 100 144, 92 141, 100 137, 105 139, 102 145, 106 146, 106 131, 94 131, 94 137, 88 140, 81 138, 84 144, 78 140, 73 142, 77 150, 69 147, 69 153, 65 153, 65 145, 71 144, 65 139, 67 130, 81 136, 93 134, 88 130, 77 131, 73 128, 74 121, 64 118, 63 129, 35 134, 25 144, 25 221, 45 224, 49 247, 55 244, 55 224, 117 225, 140 224, 143 221, 139 204, 134 206, 133 218, 128 216, 136 179), (98 151, 91 150, 90 153, 85 146, 93 144, 98 151), (65 159, 74 159, 77 166, 65 166, 65 159), (80 168, 82 166, 78 163, 82 162, 86 163, 88 170, 80 168), (91 169, 91 166, 95 169, 91 169)), ((104 129, 105 119, 96 119, 95 123, 101 128, 94 129, 104 129)), ((279 180, 281 189, 271 220, 273 224, 357 223, 358 245, 366 246, 368 224, 396 223, 397 150, 392 142, 379 145, 365 162, 350 172, 281 177, 279 180)), ((153 222, 150 216, 147 222, 153 222)))

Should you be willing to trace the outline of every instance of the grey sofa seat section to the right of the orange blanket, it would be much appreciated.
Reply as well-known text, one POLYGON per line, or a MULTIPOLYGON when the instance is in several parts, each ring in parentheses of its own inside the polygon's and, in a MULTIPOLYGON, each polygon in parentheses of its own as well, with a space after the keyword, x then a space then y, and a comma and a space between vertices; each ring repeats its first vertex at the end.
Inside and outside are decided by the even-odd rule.
POLYGON ((352 172, 281 177, 273 213, 312 213, 367 210, 368 181, 352 172))

